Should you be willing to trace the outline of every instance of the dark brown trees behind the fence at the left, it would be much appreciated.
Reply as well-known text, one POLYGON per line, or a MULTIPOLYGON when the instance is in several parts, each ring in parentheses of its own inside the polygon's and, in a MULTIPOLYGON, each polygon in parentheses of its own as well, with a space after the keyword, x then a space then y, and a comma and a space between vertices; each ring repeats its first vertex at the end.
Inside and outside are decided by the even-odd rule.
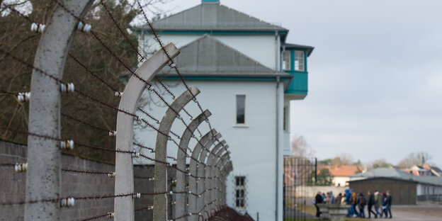
MULTIPOLYGON (((145 1, 144 6, 149 8, 152 4, 163 1, 145 1)), ((132 28, 130 23, 140 14, 135 2, 129 0, 95 1, 84 16, 84 21, 91 24, 102 42, 96 40, 93 35, 78 32, 70 47, 64 68, 63 81, 73 82, 75 89, 113 107, 118 107, 119 102, 113 90, 124 89, 125 81, 130 77, 128 69, 136 69, 139 62, 137 36, 130 30, 132 28), (101 2, 109 11, 101 5, 101 2), (110 48, 114 55, 108 52, 106 47, 110 48), (108 86, 90 72, 99 79, 105 79, 108 86)), ((1 50, 20 57, 28 64, 33 64, 41 35, 30 30, 30 23, 47 23, 56 6, 55 1, 0 0, 0 5, 1 50)), ((30 67, 0 53, 0 125, 2 128, 0 138, 3 140, 26 143, 27 136, 16 131, 28 130, 29 103, 18 103, 16 98, 9 94, 29 91, 31 72, 30 67)), ((116 115, 113 108, 78 96, 78 94, 63 94, 62 139, 69 138, 88 145, 115 149, 115 138, 108 136, 106 130, 115 130, 116 115), (105 131, 96 130, 74 119, 95 125, 105 131)), ((76 148, 69 151, 69 154, 100 159, 105 162, 113 162, 115 157, 112 152, 90 148, 76 148)))

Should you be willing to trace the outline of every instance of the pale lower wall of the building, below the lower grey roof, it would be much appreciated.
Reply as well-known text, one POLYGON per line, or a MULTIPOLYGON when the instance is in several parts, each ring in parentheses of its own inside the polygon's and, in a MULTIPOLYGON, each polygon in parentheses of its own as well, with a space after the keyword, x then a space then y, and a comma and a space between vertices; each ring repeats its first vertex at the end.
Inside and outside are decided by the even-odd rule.
MULTIPOLYGON (((184 91, 183 84, 174 84, 167 81, 171 90, 176 96, 184 91)), ((176 81, 174 81, 176 82, 176 81)), ((234 176, 246 176, 246 211, 256 219, 256 213, 259 212, 259 219, 275 220, 276 210, 276 82, 275 81, 188 81, 188 85, 196 84, 201 93, 197 96, 198 101, 203 108, 207 108, 212 113, 210 123, 213 128, 222 134, 221 140, 226 140, 229 145, 230 156, 233 162, 234 170, 227 180, 227 204, 234 208, 234 176), (236 124, 236 95, 246 96, 246 123, 245 125, 236 124)), ((283 187, 283 133, 282 133, 282 104, 283 89, 280 86, 280 149, 279 173, 278 173, 278 215, 282 220, 282 187, 283 187)), ((143 109, 161 120, 166 108, 156 106, 159 99, 150 95, 153 100, 149 106, 143 109)), ((167 94, 171 103, 171 98, 167 94)), ((142 103, 149 99, 149 93, 145 92, 142 96, 142 103)), ((161 103, 161 102, 159 102, 161 103)), ((196 103, 186 106, 186 110, 196 117, 200 110, 196 103)), ((142 115, 142 113, 138 113, 142 115)), ((188 116, 181 111, 180 115, 190 123, 188 116)), ((153 125, 154 120, 145 118, 153 125)), ((178 135, 181 135, 184 126, 179 120, 171 129, 178 135)), ((208 132, 207 123, 202 123, 200 127, 204 134, 208 132)), ((135 126, 135 140, 149 147, 154 147, 157 132, 149 128, 140 128, 135 126)), ((177 140, 177 139, 176 139, 177 140)), ((179 141, 179 140, 178 140, 179 141)), ((190 148, 195 147, 196 142, 191 140, 190 148)), ((175 157, 178 148, 173 142, 169 142, 167 153, 175 157)), ((148 152, 145 154, 149 155, 148 152)), ((136 159, 135 164, 152 164, 149 161, 136 159)))

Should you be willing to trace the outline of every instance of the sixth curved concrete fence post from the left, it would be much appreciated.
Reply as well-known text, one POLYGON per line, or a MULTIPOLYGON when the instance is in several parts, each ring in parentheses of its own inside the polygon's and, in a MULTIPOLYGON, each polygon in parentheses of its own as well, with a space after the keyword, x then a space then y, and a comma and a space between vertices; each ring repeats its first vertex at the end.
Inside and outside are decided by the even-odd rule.
MULTIPOLYGON (((208 177, 205 174, 205 169, 206 169, 206 163, 205 163, 205 157, 207 157, 208 154, 208 149, 210 149, 210 147, 212 147, 213 143, 215 143, 215 141, 217 139, 219 139, 221 137, 220 133, 217 133, 215 135, 215 137, 210 138, 210 140, 204 145, 204 148, 201 149, 200 152, 200 156, 198 157, 198 160, 205 164, 205 165, 199 165, 198 166, 198 177, 208 177)), ((197 203, 197 209, 198 211, 202 210, 203 208, 205 208, 205 204, 209 203, 207 200, 208 198, 206 198, 206 196, 208 195, 207 192, 205 191, 207 188, 207 184, 208 184, 208 179, 203 179, 203 182, 199 182, 198 183, 198 195, 200 195, 200 197, 198 198, 198 203, 197 203)), ((207 208, 205 208, 204 210, 206 210, 207 208)), ((207 214, 204 213, 204 217, 205 219, 208 219, 207 214)))

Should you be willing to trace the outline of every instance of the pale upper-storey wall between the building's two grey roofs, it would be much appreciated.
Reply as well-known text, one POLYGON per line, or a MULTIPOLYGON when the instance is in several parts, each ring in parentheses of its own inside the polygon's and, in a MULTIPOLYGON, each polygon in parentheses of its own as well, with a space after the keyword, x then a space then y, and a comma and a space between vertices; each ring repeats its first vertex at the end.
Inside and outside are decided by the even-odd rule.
MULTIPOLYGON (((202 35, 183 35, 183 34, 162 34, 160 39, 164 44, 174 42, 176 47, 183 47, 202 35)), ((217 40, 229 45, 229 47, 242 52, 244 55, 260 62, 271 69, 276 68, 276 59, 279 55, 278 42, 275 35, 213 35, 217 40)), ((145 52, 156 52, 159 50, 158 43, 153 35, 145 35, 145 41, 140 42, 140 47, 145 48, 145 52)), ((278 57, 279 59, 279 57, 278 57)), ((279 62, 278 62, 279 63, 279 62)))

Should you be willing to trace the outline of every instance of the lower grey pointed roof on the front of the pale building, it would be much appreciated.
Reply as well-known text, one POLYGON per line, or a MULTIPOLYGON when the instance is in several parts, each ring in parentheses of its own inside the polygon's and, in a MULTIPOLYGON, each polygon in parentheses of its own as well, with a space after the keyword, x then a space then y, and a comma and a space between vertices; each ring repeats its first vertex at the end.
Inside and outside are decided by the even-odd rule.
MULTIPOLYGON (((234 50, 213 36, 203 37, 180 48, 174 62, 180 73, 186 77, 268 77, 291 79, 285 72, 273 69, 234 50)), ((159 77, 176 76, 170 67, 164 67, 159 77)))

